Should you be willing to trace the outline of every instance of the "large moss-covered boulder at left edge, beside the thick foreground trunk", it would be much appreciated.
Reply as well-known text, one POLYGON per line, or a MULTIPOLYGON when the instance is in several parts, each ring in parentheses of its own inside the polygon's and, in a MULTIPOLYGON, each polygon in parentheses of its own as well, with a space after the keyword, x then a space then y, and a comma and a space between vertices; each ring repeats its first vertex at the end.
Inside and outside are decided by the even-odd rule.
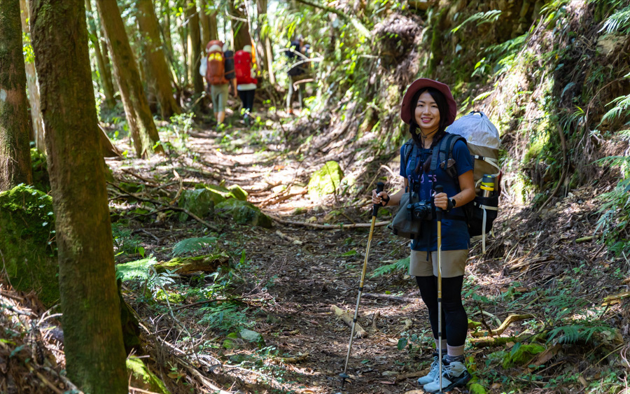
POLYGON ((27 185, 0 193, 0 251, 11 285, 35 290, 47 307, 59 300, 52 198, 27 185))

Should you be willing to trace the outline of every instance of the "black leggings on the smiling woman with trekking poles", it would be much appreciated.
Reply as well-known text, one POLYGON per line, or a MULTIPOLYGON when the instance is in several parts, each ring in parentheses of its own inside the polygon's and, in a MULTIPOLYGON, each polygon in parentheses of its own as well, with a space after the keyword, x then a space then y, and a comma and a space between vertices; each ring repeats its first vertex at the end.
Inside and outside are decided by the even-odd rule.
MULTIPOLYGON (((437 276, 416 276, 420 295, 429 311, 433 337, 437 339, 437 276)), ((468 332, 468 316, 461 304, 463 276, 442 278, 442 339, 449 346, 462 346, 468 332)))

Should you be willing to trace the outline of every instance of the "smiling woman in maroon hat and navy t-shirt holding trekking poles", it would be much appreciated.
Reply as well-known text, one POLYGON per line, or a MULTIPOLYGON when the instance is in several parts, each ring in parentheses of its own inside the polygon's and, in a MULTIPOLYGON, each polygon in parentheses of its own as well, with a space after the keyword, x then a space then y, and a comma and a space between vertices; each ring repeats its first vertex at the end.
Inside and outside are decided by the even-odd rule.
MULTIPOLYGON (((457 106, 447 85, 435 80, 420 78, 415 80, 405 93, 400 109, 400 118, 409 125, 409 133, 414 148, 408 162, 400 150, 400 176, 405 178, 405 189, 418 190, 421 200, 430 202, 433 196, 435 207, 446 214, 442 220, 442 341, 437 334, 437 220, 422 226, 421 239, 411 243, 409 275, 416 277, 422 300, 428 308, 429 321, 435 346, 441 346, 445 355, 441 362, 442 389, 450 390, 464 386, 470 380, 463 356, 468 316, 461 302, 461 286, 470 237, 463 220, 461 206, 475 198, 475 183, 472 178, 472 158, 466 144, 457 141, 453 148, 455 162, 440 163, 435 171, 430 171, 431 151, 444 137, 445 129, 455 120, 457 106), (457 181, 444 169, 456 168, 457 181), (444 192, 435 194, 435 186, 442 185, 444 192), (444 324, 445 323, 445 324, 444 324)), ((388 196, 386 192, 377 195, 372 190, 372 202, 381 206, 398 205, 404 190, 388 196)), ((437 347, 433 353, 430 372, 418 379, 425 391, 435 393, 440 390, 438 381, 439 365, 437 347)))

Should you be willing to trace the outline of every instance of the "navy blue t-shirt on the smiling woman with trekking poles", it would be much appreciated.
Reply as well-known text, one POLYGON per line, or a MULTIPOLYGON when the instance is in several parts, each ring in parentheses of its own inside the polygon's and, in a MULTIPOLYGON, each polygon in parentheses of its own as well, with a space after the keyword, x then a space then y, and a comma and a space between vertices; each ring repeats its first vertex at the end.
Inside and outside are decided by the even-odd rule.
MULTIPOLYGON (((452 198, 459 192, 458 183, 442 170, 440 166, 437 166, 437 169, 433 173, 424 173, 422 169, 419 169, 421 174, 416 174, 415 169, 418 162, 425 162, 430 154, 430 149, 420 148, 414 143, 412 153, 409 155, 409 161, 403 163, 405 160, 405 146, 402 146, 402 148, 400 148, 400 176, 405 177, 407 181, 409 181, 409 186, 419 182, 420 199, 429 201, 433 195, 434 185, 442 185, 447 196, 452 198)), ((468 146, 466 146, 463 141, 457 141, 455 143, 453 147, 453 158, 455 160, 455 168, 458 176, 472 170, 472 157, 470 157, 468 146)), ((401 209, 403 208, 401 207, 401 209)), ((451 209, 449 216, 463 217, 464 213, 461 207, 455 207, 451 209)), ((423 239, 412 241, 411 248, 414 251, 437 251, 437 220, 433 219, 430 225, 428 225, 428 223, 424 225, 422 231, 424 235, 423 239), (429 234, 426 234, 427 232, 429 234)), ((465 221, 447 219, 442 216, 442 251, 459 251, 461 249, 468 249, 469 247, 470 237, 465 221)))

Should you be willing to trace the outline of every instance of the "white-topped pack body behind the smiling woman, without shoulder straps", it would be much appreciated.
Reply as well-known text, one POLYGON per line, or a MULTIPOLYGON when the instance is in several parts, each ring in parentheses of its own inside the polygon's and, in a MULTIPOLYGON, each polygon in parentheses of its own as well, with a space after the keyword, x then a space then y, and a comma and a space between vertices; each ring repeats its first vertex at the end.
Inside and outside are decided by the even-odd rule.
MULTIPOLYGON (((498 197, 500 195, 500 173, 498 150, 500 137, 496 127, 485 113, 472 111, 449 126, 447 132, 458 134, 466 139, 470 155, 474 159, 475 199, 470 202, 468 210, 468 232, 471 236, 482 236, 482 248, 486 251, 486 233, 491 230, 492 222, 498 213, 498 197), (493 178, 493 190, 484 197, 484 175, 493 178)), ((486 189, 488 190, 488 189, 486 189)))

